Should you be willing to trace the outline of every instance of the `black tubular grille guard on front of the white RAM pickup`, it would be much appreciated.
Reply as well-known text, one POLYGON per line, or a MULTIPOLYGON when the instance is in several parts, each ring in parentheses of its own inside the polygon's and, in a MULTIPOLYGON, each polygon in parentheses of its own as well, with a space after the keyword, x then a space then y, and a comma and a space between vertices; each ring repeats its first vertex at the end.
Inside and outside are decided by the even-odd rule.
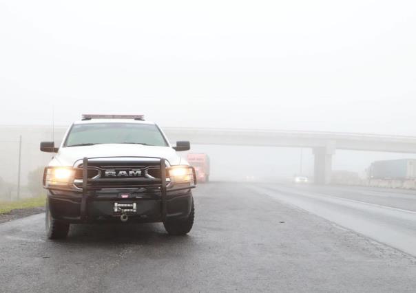
MULTIPOLYGON (((103 157, 102 157, 103 158, 103 157)), ((114 157, 112 157, 114 158, 114 157)), ((143 158, 143 157, 131 157, 131 158, 143 158)), ((159 160, 159 166, 160 166, 160 178, 125 178, 124 181, 129 182, 141 182, 146 183, 149 182, 151 184, 149 185, 143 185, 143 187, 156 187, 160 188, 160 214, 161 214, 161 220, 164 221, 167 215, 167 193, 173 192, 173 191, 183 191, 183 190, 189 190, 191 188, 196 187, 196 173, 195 169, 192 166, 189 166, 189 168, 192 169, 193 177, 194 177, 194 184, 185 186, 185 187, 178 187, 178 188, 167 188, 167 172, 166 172, 166 160, 165 158, 152 158, 152 159, 158 159, 159 160)), ((117 179, 114 178, 88 178, 88 158, 83 158, 83 165, 82 167, 76 167, 75 170, 82 171, 82 197, 81 197, 81 220, 85 221, 87 219, 87 202, 90 197, 94 197, 96 193, 96 189, 90 188, 88 186, 88 183, 94 183, 94 182, 116 182, 117 179)), ((181 183, 181 182, 176 182, 181 183)), ((73 189, 70 188, 54 188, 54 187, 48 187, 47 189, 50 190, 56 190, 56 191, 73 191, 73 189)), ((123 188, 120 186, 120 188, 117 189, 129 189, 129 188, 123 188)), ((125 214, 123 214, 125 215, 125 214)), ((123 221, 123 219, 122 219, 123 221)))

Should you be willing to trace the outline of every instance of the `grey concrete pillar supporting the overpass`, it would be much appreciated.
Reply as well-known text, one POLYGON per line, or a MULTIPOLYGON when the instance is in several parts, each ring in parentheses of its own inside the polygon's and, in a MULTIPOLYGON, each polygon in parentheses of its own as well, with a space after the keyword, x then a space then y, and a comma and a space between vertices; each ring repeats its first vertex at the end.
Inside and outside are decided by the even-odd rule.
POLYGON ((335 154, 335 142, 327 146, 315 147, 314 182, 315 184, 330 184, 332 175, 332 156, 335 154))

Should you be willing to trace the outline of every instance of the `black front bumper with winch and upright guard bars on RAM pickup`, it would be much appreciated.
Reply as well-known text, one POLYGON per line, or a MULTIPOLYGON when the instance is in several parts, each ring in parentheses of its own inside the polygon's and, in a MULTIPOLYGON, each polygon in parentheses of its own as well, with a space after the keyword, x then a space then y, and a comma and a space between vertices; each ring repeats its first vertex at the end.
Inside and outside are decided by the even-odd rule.
MULTIPOLYGON (((94 188, 96 179, 87 178, 88 158, 83 158, 82 190, 48 187, 50 215, 66 223, 93 223, 100 221, 158 222, 169 218, 186 218, 191 213, 189 182, 167 184, 165 159, 158 158, 160 179, 141 188, 94 188)), ((192 167, 189 167, 192 168, 192 167)), ((192 168, 193 169, 193 168, 192 168)), ((132 179, 143 182, 143 179, 132 179)), ((109 181, 109 180, 100 180, 109 181)), ((149 181, 149 180, 147 180, 149 181)))

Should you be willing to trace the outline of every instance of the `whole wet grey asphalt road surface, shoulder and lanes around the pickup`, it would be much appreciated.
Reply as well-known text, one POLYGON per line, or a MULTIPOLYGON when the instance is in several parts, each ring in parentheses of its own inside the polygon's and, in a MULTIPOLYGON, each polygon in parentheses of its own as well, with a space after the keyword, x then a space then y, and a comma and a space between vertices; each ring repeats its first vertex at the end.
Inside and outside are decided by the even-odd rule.
POLYGON ((50 241, 43 214, 0 224, 0 292, 415 292, 415 254, 397 247, 416 235, 415 193, 213 182, 194 198, 185 237, 96 225, 50 241))

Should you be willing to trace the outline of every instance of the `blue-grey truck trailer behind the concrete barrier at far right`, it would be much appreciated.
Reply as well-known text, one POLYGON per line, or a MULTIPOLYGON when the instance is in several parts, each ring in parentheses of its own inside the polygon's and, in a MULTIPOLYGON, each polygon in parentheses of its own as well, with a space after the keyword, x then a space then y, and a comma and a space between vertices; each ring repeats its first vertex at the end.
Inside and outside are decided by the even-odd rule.
POLYGON ((370 179, 409 180, 416 178, 416 160, 375 161, 368 169, 370 179))

